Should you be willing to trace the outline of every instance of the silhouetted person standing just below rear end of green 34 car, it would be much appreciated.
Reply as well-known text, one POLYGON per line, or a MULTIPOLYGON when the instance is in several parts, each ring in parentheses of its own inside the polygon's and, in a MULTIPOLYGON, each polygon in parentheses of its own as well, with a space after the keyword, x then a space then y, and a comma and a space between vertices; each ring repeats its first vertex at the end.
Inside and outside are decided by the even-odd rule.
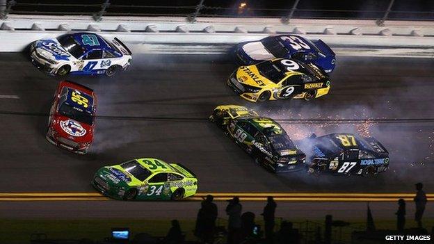
POLYGON ((212 202, 214 197, 207 195, 202 203, 202 243, 214 243, 214 229, 216 229, 216 219, 218 215, 217 205, 212 202))

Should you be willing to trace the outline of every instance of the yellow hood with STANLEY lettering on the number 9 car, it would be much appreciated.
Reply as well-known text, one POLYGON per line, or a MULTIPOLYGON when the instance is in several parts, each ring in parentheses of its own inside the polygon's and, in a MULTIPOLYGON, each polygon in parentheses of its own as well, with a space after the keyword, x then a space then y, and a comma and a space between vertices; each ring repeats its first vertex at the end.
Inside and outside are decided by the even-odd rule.
POLYGON ((256 65, 241 66, 236 70, 236 79, 239 83, 257 88, 266 86, 277 86, 273 81, 266 79, 259 73, 256 65))

